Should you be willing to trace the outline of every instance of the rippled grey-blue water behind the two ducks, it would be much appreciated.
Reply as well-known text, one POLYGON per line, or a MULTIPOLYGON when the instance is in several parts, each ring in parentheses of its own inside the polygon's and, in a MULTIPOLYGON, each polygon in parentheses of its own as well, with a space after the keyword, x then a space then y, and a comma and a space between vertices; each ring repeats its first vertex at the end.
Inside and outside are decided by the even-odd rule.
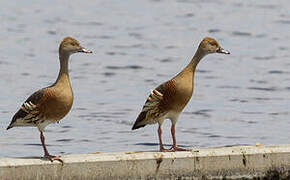
MULTIPOLYGON (((216 38, 231 55, 198 66, 195 92, 177 123, 183 147, 287 144, 290 2, 1 1, 0 156, 41 156, 36 128, 6 131, 13 114, 58 73, 58 44, 78 39, 94 54, 71 57, 75 101, 47 127, 51 154, 158 150, 157 126, 131 131, 151 89, 216 38)), ((163 125, 170 145, 170 122, 163 125)))

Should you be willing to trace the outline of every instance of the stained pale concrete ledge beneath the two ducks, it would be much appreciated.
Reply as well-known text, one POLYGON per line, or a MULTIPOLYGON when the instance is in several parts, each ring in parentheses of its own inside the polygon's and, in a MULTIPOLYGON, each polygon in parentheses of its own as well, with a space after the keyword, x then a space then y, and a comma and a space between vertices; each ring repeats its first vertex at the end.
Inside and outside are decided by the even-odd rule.
POLYGON ((0 179, 290 179, 290 145, 0 158, 0 179))

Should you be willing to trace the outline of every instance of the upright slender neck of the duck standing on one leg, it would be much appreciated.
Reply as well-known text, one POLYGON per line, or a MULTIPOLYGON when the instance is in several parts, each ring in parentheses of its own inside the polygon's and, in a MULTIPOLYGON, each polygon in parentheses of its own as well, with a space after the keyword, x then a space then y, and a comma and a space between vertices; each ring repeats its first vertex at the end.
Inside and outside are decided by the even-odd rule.
POLYGON ((60 70, 56 82, 54 83, 56 86, 60 84, 70 85, 68 74, 69 56, 69 54, 59 53, 60 70))

